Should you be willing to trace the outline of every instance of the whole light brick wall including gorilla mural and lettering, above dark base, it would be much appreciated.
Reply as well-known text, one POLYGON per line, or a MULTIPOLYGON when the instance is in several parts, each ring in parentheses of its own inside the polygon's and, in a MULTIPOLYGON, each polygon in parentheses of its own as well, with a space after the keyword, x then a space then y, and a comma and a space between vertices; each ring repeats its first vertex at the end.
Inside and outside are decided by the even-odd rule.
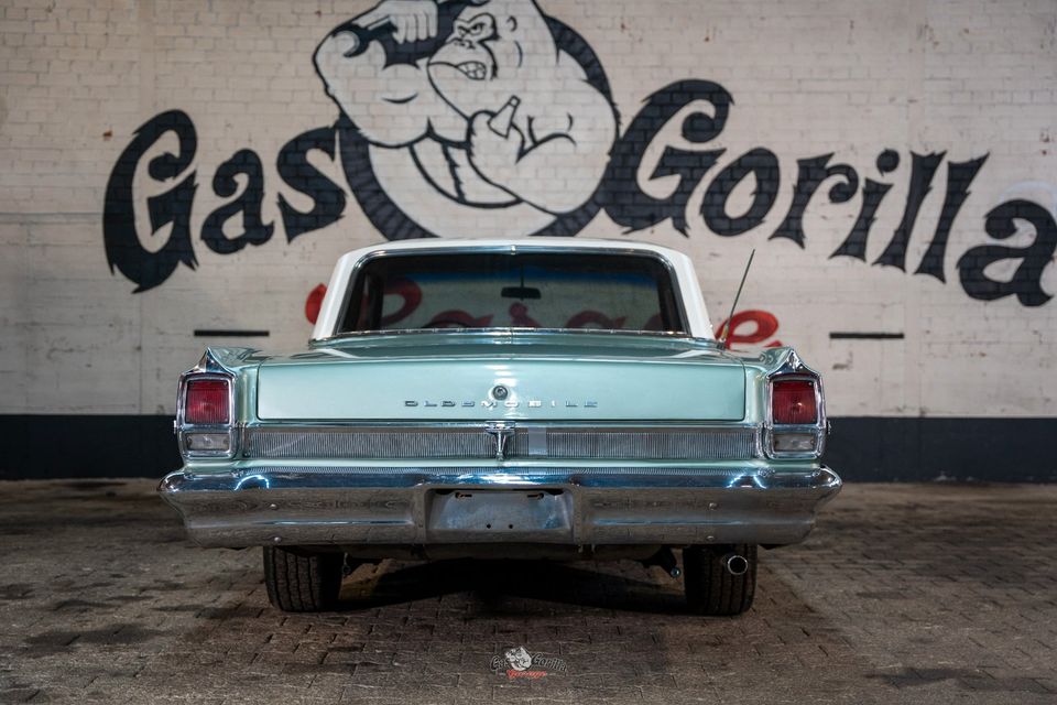
POLYGON ((433 43, 371 40, 345 57, 345 37, 317 72, 338 24, 415 15, 359 1, 7 0, 0 413, 170 413, 206 344, 301 345, 306 299, 344 251, 546 230, 690 253, 717 324, 756 248, 741 308, 777 322, 760 344, 794 344, 826 375, 833 415, 1051 415, 1053 0, 465 4, 412 8, 423 26, 436 12, 433 43), (475 29, 481 14, 491 28, 475 29), (383 68, 386 52, 423 65, 459 32, 493 46, 520 32, 505 135, 489 127, 504 104, 487 80, 453 98, 426 94, 455 74, 383 68), (475 100, 472 156, 432 137, 404 144, 424 124, 458 132, 475 100), (530 117, 538 139, 521 134, 530 117), (522 151, 546 135, 575 149, 515 165, 511 134, 522 151))

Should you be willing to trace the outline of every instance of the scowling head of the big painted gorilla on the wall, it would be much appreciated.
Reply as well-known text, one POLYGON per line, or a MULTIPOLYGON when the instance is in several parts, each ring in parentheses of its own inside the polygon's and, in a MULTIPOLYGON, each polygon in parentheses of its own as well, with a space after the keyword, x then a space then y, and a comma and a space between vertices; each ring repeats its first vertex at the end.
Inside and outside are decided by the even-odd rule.
POLYGON ((552 66, 557 47, 531 0, 489 0, 465 9, 447 42, 427 63, 429 80, 465 118, 499 110, 524 93, 537 56, 552 66))

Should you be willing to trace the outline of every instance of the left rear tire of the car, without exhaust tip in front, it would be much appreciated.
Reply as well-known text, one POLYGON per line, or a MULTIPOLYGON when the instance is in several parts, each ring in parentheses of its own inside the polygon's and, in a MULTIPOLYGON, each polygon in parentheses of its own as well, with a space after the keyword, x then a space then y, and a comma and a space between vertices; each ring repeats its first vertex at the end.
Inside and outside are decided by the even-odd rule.
POLYGON ((268 599, 286 612, 334 609, 341 592, 344 567, 344 553, 264 546, 268 599))

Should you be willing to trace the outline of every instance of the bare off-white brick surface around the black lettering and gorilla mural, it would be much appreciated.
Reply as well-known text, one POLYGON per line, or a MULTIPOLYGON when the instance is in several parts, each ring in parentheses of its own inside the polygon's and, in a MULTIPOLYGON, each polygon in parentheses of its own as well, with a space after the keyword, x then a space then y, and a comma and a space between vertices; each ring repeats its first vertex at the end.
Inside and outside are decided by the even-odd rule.
MULTIPOLYGON (((1027 307, 1015 296, 972 299, 956 262, 973 246, 1033 241, 1029 229, 1006 241, 988 235, 985 215, 1003 202, 1027 198, 1057 218, 1053 0, 540 4, 597 54, 621 131, 651 94, 676 80, 716 82, 733 96, 723 132, 698 148, 726 153, 690 199, 688 236, 671 220, 631 236, 696 259, 716 323, 756 248, 741 307, 780 319, 777 337, 826 375, 833 415, 1051 414, 1057 301, 1027 307), (760 147, 781 164, 777 200, 759 227, 720 237, 697 212, 704 187, 760 147), (898 152, 900 166, 881 175, 874 161, 885 148, 898 152), (903 216, 912 151, 947 156, 922 204, 903 272, 872 262, 903 216), (804 249, 769 240, 789 208, 797 160, 830 152, 831 164, 857 170, 859 192, 831 204, 826 193, 836 182, 824 184, 805 215, 804 249), (984 154, 950 234, 947 282, 915 275, 939 218, 947 164, 984 154), (856 221, 867 177, 892 184, 867 260, 828 259, 856 221), (901 332, 905 339, 830 339, 831 332, 901 332)), ((268 348, 303 343, 310 332, 303 313, 308 292, 327 280, 339 253, 383 236, 352 197, 341 164, 317 152, 312 163, 346 191, 344 217, 287 242, 280 194, 299 209, 312 204, 282 182, 276 158, 294 137, 338 117, 313 53, 335 25, 371 7, 306 0, 0 6, 0 413, 168 413, 176 375, 206 344, 192 337, 194 329, 269 329, 270 338, 250 340, 268 348), (173 109, 185 111, 198 133, 190 228, 198 267, 181 265, 160 286, 133 294, 135 284, 108 268, 105 189, 133 132, 173 109), (275 232, 261 246, 220 256, 205 247, 201 225, 227 200, 213 193, 217 167, 241 149, 263 163, 263 219, 275 232)), ((151 155, 175 145, 167 135, 151 155)), ((135 183, 146 189, 137 195, 140 212, 149 189, 165 189, 142 173, 135 183)), ((750 191, 743 184, 735 202, 748 204, 750 191)), ((145 235, 145 215, 138 219, 144 247, 160 247, 165 234, 145 235)), ((486 216, 478 223, 491 227, 486 216)), ((622 231, 602 212, 581 232, 626 237, 622 231)), ((987 271, 1002 278, 1013 269, 1006 262, 987 271)), ((1057 267, 1046 268, 1042 285, 1057 295, 1057 267)))

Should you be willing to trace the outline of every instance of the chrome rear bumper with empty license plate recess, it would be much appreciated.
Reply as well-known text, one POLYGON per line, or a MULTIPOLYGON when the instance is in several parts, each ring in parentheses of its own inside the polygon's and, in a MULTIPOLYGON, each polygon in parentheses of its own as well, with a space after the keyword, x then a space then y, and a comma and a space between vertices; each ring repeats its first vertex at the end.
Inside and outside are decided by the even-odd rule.
POLYGON ((185 468, 159 492, 204 546, 590 546, 796 543, 840 486, 817 466, 268 466, 185 468))

